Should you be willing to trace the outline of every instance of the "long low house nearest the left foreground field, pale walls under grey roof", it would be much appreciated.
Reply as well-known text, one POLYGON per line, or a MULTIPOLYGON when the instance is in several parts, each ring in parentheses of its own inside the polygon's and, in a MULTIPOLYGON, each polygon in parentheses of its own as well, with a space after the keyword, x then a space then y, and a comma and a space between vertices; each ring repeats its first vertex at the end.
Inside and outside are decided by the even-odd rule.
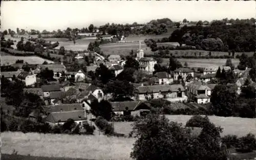
POLYGON ((73 119, 77 125, 82 125, 87 120, 84 111, 71 111, 71 112, 52 112, 46 118, 45 122, 51 126, 57 124, 64 124, 68 119, 73 119))

